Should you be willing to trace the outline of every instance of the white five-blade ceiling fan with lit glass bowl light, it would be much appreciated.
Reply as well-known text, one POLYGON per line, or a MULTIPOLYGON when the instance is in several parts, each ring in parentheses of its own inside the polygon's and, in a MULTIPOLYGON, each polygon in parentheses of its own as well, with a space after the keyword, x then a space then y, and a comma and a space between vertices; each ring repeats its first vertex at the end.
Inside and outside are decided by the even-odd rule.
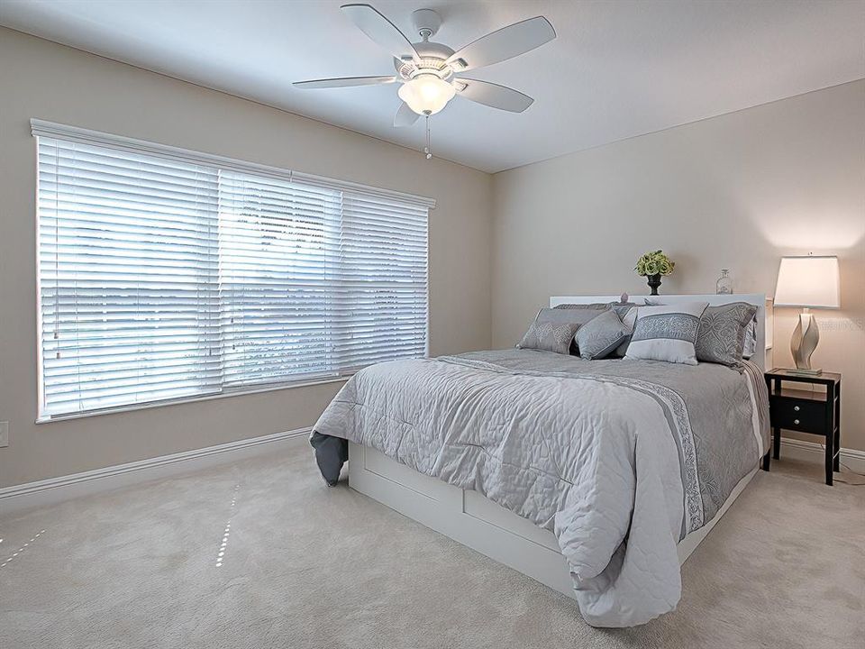
MULTIPOLYGON (((409 126, 421 115, 429 117, 448 104, 454 96, 522 113, 533 98, 505 86, 464 78, 463 72, 513 59, 542 46, 556 37, 543 16, 514 23, 488 33, 461 50, 452 50, 430 38, 438 32, 442 18, 432 9, 418 9, 412 21, 421 40, 411 42, 403 32, 370 5, 342 5, 342 13, 394 57, 396 75, 390 77, 348 77, 297 81, 298 88, 378 86, 400 83, 397 94, 403 103, 396 111, 394 126, 409 126)), ((427 157, 430 157, 427 151, 427 157)))

